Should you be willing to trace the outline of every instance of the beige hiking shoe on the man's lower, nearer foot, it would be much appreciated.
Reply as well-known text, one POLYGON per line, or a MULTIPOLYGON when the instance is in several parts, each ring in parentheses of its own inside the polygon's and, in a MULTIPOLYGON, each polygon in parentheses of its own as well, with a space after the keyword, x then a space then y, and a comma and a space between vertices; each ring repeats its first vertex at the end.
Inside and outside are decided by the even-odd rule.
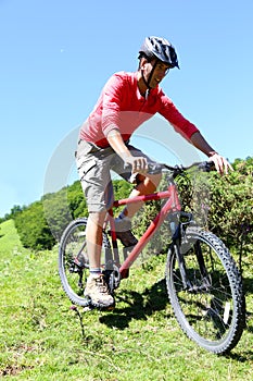
POLYGON ((115 304, 103 274, 87 279, 84 295, 90 298, 90 303, 94 307, 109 308, 115 304))

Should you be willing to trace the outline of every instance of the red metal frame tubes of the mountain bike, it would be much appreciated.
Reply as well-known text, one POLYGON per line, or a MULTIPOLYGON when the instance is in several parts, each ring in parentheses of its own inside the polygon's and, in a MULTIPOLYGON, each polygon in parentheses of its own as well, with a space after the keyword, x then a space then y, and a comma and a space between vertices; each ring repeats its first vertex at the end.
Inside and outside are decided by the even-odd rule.
POLYGON ((130 254, 127 256, 125 261, 119 267, 119 273, 122 279, 128 276, 128 269, 131 267, 131 265, 135 262, 135 260, 138 258, 139 254, 143 249, 143 247, 148 244, 152 235, 155 233, 155 231, 161 226, 161 224, 164 222, 166 216, 168 213, 178 212, 181 210, 180 201, 177 194, 177 187, 176 184, 169 184, 167 190, 165 192, 157 192, 150 195, 143 195, 143 196, 136 196, 132 198, 125 198, 121 200, 115 200, 113 204, 113 207, 109 210, 109 223, 111 225, 111 235, 112 235, 112 243, 113 243, 113 250, 114 256, 118 258, 117 255, 117 238, 115 233, 115 224, 114 224, 114 214, 113 214, 113 208, 121 207, 128 204, 136 204, 139 201, 147 202, 151 200, 161 200, 166 199, 167 201, 161 209, 161 211, 156 214, 156 217, 153 219, 153 221, 150 223, 149 228, 144 232, 144 234, 140 237, 137 245, 134 247, 134 249, 130 251, 130 254))

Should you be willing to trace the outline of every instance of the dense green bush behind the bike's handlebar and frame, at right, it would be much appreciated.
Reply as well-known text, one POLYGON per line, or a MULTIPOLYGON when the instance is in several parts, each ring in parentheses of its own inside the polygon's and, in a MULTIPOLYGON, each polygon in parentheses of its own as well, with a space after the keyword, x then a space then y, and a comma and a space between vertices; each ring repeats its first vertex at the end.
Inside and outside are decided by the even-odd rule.
MULTIPOLYGON (((176 182, 182 210, 192 211, 195 223, 211 230, 230 249, 242 255, 252 248, 253 242, 253 158, 237 159, 233 169, 235 172, 223 176, 216 172, 186 173, 176 182)), ((139 236, 160 208, 160 204, 153 201, 136 217, 135 231, 139 236)), ((170 230, 165 221, 149 244, 149 254, 166 251, 169 242, 170 230)))

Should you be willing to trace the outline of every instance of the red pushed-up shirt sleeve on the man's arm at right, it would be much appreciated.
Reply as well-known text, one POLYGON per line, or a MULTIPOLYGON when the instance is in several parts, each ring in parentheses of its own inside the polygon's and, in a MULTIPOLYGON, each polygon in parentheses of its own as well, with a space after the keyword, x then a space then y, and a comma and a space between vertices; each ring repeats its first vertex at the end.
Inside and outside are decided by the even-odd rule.
POLYGON ((197 126, 189 122, 164 94, 161 96, 161 109, 159 112, 173 125, 176 132, 188 140, 194 133, 199 132, 197 126))

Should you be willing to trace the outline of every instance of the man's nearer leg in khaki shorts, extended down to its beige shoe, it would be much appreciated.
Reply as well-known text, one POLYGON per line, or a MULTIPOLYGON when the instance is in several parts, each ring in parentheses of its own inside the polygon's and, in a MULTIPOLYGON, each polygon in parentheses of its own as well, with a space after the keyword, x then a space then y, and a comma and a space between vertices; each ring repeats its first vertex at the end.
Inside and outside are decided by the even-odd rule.
POLYGON ((102 149, 81 140, 76 155, 77 169, 89 210, 86 242, 90 275, 87 279, 85 295, 96 307, 109 307, 114 304, 101 271, 102 229, 106 206, 111 205, 113 196, 110 175, 113 153, 115 155, 113 149, 102 149))

